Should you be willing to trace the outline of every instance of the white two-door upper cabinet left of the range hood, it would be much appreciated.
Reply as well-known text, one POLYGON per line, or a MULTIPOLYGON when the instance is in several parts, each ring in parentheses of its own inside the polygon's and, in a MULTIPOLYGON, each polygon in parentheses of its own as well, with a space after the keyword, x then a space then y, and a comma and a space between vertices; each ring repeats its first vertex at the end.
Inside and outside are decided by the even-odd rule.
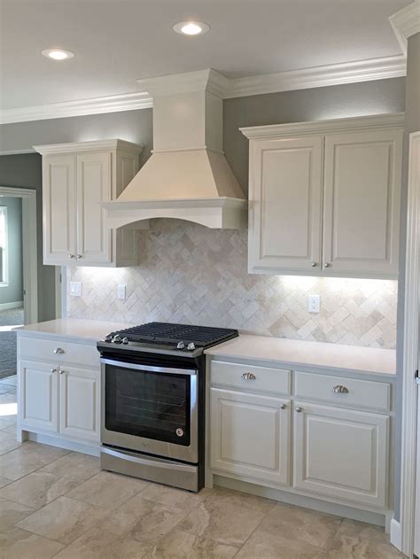
POLYGON ((142 148, 105 140, 35 149, 43 154, 43 263, 138 264, 136 229, 107 229, 100 203, 117 198, 136 175, 142 148))

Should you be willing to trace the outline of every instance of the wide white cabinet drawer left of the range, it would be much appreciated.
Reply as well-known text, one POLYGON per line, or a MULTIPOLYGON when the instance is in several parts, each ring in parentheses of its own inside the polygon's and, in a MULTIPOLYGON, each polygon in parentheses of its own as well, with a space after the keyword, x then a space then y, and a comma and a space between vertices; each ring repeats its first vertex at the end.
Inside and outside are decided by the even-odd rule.
POLYGON ((94 369, 99 368, 96 345, 75 344, 40 338, 19 338, 19 357, 52 363, 76 363, 94 369))

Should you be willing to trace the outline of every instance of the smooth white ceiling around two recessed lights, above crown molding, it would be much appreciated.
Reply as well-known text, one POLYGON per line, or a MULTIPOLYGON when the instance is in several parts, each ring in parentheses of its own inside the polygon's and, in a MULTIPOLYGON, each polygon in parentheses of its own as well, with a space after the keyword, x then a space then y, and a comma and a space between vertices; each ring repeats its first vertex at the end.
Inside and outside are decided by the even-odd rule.
POLYGON ((411 0, 0 0, 2 109, 137 90, 213 67, 228 77, 401 54, 388 17, 411 0), (177 35, 198 19, 207 35, 177 35), (54 62, 41 50, 75 57, 54 62))

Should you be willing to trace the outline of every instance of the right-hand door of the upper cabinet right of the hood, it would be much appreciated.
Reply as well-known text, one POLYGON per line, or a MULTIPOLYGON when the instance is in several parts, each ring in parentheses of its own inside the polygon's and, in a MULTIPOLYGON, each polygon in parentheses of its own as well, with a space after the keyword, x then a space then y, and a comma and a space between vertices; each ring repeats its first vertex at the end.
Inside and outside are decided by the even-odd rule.
POLYGON ((329 274, 397 277, 399 129, 325 138, 323 265, 329 274))

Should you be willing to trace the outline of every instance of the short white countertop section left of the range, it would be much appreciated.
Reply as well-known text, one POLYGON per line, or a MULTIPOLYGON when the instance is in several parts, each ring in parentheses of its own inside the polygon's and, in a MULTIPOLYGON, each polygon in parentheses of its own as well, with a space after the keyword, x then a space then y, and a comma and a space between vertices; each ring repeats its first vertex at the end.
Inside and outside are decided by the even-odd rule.
POLYGON ((72 338, 97 342, 110 332, 129 328, 133 324, 128 322, 106 322, 81 320, 77 318, 61 318, 55 321, 28 324, 15 329, 28 335, 41 338, 72 338))

